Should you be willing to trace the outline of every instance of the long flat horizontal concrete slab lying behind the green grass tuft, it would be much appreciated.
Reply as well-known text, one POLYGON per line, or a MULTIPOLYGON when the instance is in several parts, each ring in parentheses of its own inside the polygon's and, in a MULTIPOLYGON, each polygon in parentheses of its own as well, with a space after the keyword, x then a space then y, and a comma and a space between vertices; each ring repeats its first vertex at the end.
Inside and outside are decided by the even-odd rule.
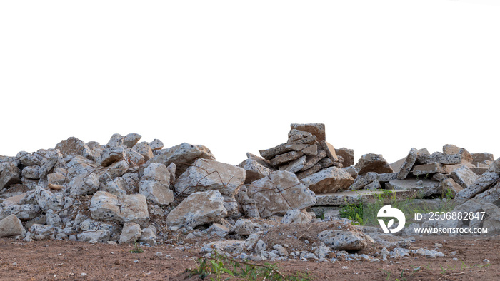
POLYGON ((353 190, 341 193, 327 193, 316 195, 315 206, 333 205, 341 206, 356 203, 375 203, 379 198, 384 199, 384 203, 391 203, 394 200, 404 201, 408 198, 416 198, 415 190, 353 190))

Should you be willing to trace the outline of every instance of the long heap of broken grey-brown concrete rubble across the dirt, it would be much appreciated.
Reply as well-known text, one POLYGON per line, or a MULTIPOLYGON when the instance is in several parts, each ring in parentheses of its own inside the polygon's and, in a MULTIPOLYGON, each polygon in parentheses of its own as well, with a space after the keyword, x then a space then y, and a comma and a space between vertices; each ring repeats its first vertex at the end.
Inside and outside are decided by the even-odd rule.
POLYGON ((500 158, 490 153, 444 145, 435 153, 411 148, 392 164, 376 153, 356 162, 354 150, 326 141, 319 123, 291 124, 286 143, 259 153, 230 165, 204 145, 164 148, 158 139, 116 133, 103 145, 71 137, 55 148, 0 156, 0 237, 149 246, 181 237, 182 247, 203 240, 196 245, 204 255, 217 250, 254 261, 436 257, 442 253, 410 250, 409 228, 401 237, 381 233, 341 218, 339 209, 444 197, 454 211, 485 213, 444 225, 500 233, 500 158), (346 252, 375 244, 383 247, 379 255, 346 252))

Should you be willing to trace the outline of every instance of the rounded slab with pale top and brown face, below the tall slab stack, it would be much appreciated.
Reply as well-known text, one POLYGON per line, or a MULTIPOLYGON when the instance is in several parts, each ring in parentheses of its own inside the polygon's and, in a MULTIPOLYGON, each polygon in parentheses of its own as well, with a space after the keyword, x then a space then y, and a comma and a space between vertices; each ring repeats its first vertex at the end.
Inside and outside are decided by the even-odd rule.
POLYGON ((303 178, 300 182, 314 193, 321 194, 346 190, 354 183, 354 179, 346 170, 330 167, 303 178))

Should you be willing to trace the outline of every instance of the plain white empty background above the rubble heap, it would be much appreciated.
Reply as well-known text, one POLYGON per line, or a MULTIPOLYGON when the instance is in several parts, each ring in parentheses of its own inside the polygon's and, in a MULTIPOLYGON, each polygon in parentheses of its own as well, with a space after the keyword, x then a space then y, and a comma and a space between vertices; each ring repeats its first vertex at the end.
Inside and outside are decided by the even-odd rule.
POLYGON ((113 133, 225 163, 325 123, 356 160, 500 156, 496 1, 1 1, 0 155, 113 133))

